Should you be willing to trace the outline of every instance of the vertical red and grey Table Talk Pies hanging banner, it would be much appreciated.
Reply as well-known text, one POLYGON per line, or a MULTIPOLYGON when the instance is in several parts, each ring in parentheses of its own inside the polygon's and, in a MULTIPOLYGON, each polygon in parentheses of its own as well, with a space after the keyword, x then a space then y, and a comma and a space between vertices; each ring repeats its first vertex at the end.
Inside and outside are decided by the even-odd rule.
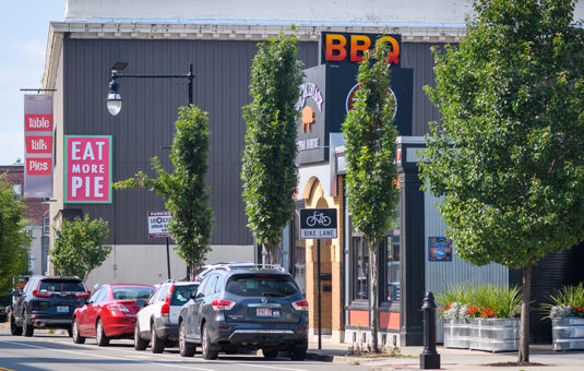
POLYGON ((52 198, 52 95, 24 95, 24 196, 52 198))

